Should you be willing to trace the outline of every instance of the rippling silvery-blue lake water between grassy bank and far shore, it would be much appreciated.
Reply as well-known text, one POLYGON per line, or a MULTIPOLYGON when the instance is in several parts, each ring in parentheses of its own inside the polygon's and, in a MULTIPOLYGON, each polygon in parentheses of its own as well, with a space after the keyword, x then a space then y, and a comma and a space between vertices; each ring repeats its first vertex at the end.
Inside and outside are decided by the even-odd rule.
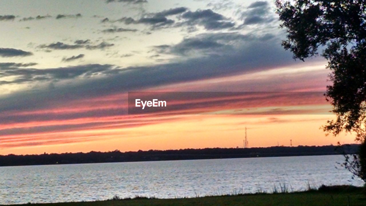
POLYGON ((304 156, 0 167, 0 204, 272 192, 280 183, 290 191, 306 190, 308 184, 362 186, 350 172, 335 168, 342 160, 304 156))

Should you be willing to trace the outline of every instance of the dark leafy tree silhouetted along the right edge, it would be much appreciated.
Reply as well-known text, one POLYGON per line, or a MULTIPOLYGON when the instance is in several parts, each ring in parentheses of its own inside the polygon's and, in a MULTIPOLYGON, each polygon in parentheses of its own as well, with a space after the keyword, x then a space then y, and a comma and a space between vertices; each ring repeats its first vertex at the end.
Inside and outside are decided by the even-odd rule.
MULTIPOLYGON (((324 49, 320 55, 328 60, 333 83, 325 96, 337 115, 324 131, 335 136, 353 132, 357 142, 366 144, 366 1, 276 0, 275 4, 280 27, 287 33, 282 45, 295 59, 304 61, 324 49)), ((355 158, 348 159, 348 165, 359 166, 352 169, 364 181, 365 152, 360 149, 355 158)))

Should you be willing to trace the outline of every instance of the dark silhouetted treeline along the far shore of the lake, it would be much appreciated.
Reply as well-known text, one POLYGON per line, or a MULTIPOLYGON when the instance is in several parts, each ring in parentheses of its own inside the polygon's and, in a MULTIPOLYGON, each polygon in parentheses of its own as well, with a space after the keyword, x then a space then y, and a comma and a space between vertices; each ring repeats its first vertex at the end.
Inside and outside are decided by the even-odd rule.
POLYGON ((337 155, 355 154, 358 147, 358 144, 351 144, 342 146, 274 146, 250 148, 139 150, 127 152, 115 150, 108 152, 90 151, 88 153, 44 153, 38 155, 8 154, 0 155, 0 166, 337 155))

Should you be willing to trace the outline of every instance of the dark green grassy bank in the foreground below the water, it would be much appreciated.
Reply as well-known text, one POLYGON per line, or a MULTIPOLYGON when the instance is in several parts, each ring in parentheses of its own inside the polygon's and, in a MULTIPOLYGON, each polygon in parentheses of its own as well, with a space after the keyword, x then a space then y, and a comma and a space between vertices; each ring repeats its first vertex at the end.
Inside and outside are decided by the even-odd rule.
MULTIPOLYGON (((323 187, 294 193, 208 196, 183 199, 134 198, 96 202, 32 204, 40 206, 365 206, 363 188, 323 187)), ((19 206, 19 205, 18 205, 19 206)))

